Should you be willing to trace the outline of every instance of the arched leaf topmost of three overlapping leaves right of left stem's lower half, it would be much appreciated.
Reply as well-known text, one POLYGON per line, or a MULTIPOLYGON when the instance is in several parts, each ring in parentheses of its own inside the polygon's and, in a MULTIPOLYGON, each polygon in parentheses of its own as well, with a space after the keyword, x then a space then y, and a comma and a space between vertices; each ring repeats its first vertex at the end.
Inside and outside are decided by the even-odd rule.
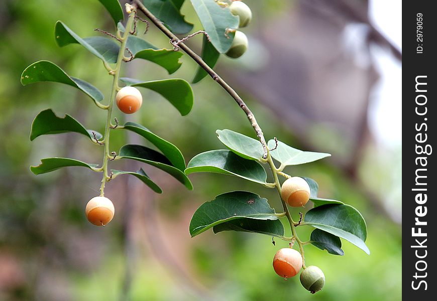
POLYGON ((137 134, 143 136, 144 138, 152 142, 153 145, 155 145, 156 147, 158 147, 159 150, 161 150, 162 154, 164 154, 164 156, 167 157, 167 159, 171 162, 171 164, 174 167, 181 170, 182 172, 185 170, 185 159, 182 156, 182 153, 180 152, 179 148, 174 146, 172 143, 155 135, 146 127, 135 122, 128 121, 125 123, 123 128, 136 132, 137 134))

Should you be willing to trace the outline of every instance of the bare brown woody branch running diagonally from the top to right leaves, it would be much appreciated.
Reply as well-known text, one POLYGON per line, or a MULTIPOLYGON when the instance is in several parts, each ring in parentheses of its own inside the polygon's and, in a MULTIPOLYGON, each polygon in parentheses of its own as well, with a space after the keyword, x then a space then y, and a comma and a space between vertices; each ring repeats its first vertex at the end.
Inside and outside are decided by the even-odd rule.
MULTIPOLYGON (((155 26, 162 31, 167 37, 170 38, 171 41, 178 41, 179 38, 174 35, 169 29, 167 29, 164 24, 161 23, 149 10, 141 3, 139 0, 134 0, 134 4, 137 5, 138 9, 143 12, 143 14, 149 18, 150 21, 152 21, 155 26)), ((201 57, 199 57, 194 51, 192 51, 188 46, 186 46, 184 43, 178 43, 178 47, 182 49, 187 55, 189 55, 200 67, 202 67, 211 77, 213 80, 215 80, 218 84, 220 84, 228 93, 232 96, 232 98, 235 99, 235 101, 238 103, 240 108, 246 113, 247 118, 249 119, 252 127, 254 128, 258 139, 260 140, 261 144, 263 145, 264 155, 263 159, 267 159, 267 143, 266 139, 264 138, 263 131, 261 130, 261 127, 258 125, 257 120, 255 119, 254 114, 249 109, 249 107, 246 105, 246 103, 241 99, 241 97, 237 94, 237 92, 230 86, 228 83, 226 83, 218 74, 212 70, 211 67, 209 67, 201 57)))

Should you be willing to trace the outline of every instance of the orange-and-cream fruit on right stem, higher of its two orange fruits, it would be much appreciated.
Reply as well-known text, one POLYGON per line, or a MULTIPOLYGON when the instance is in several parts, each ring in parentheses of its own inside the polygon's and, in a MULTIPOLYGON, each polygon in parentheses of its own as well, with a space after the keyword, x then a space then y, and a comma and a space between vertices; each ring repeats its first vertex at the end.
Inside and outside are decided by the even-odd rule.
POLYGON ((300 177, 291 177, 282 184, 281 197, 291 207, 305 206, 309 195, 309 185, 300 177))

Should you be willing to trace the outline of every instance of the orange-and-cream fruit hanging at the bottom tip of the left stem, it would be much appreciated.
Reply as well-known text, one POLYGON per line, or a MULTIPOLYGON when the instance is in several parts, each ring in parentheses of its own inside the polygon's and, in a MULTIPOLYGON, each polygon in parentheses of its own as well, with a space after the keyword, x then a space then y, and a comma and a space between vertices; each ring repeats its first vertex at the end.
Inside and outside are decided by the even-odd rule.
POLYGON ((105 197, 94 197, 85 207, 85 215, 91 224, 104 226, 114 217, 114 204, 105 197))

